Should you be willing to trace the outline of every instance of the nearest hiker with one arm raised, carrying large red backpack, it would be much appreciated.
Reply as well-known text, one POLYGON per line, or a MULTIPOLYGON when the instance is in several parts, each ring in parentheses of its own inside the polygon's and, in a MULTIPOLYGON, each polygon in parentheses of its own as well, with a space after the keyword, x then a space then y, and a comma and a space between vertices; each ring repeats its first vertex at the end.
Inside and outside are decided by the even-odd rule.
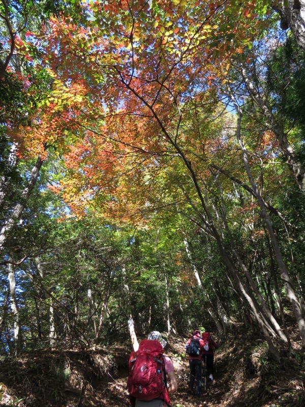
POLYGON ((177 390, 177 381, 172 361, 163 355, 167 342, 159 331, 153 331, 138 343, 131 319, 129 328, 134 352, 129 358, 127 381, 130 404, 132 407, 171 407, 169 393, 177 390))

